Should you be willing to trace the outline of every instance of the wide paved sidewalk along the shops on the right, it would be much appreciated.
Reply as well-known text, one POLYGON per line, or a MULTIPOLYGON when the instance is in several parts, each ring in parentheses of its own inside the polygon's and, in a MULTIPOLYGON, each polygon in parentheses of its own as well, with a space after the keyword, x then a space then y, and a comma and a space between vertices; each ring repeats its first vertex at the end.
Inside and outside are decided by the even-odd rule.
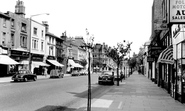
MULTIPOLYGON (((85 111, 81 106, 77 111, 85 111)), ((100 98, 92 100, 91 111, 185 111, 185 105, 174 100, 164 89, 134 72, 114 85, 100 98)))

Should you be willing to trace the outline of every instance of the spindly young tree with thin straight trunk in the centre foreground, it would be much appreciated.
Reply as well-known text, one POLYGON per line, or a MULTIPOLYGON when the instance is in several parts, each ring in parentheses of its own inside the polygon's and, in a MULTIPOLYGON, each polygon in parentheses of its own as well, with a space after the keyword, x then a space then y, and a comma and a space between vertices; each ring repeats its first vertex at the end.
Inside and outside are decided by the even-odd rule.
POLYGON ((88 98, 87 98, 87 111, 91 111, 91 57, 90 57, 90 52, 93 49, 93 42, 94 42, 94 36, 89 37, 89 32, 86 29, 86 43, 84 43, 83 46, 86 50, 88 50, 88 98))

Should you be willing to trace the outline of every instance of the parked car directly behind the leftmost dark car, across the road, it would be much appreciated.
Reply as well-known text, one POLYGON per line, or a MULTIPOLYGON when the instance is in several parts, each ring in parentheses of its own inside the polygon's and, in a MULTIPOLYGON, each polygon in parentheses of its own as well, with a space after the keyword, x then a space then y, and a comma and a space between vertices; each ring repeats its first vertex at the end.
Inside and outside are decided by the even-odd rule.
POLYGON ((50 71, 50 78, 63 78, 63 77, 64 77, 64 73, 59 69, 52 69, 50 71))

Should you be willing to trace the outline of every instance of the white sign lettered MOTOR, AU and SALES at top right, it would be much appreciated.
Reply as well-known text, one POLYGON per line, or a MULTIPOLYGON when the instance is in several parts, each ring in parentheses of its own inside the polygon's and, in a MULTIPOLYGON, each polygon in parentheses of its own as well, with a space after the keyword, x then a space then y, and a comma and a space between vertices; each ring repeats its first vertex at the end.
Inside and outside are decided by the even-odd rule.
POLYGON ((170 22, 185 22, 185 0, 170 1, 170 22))

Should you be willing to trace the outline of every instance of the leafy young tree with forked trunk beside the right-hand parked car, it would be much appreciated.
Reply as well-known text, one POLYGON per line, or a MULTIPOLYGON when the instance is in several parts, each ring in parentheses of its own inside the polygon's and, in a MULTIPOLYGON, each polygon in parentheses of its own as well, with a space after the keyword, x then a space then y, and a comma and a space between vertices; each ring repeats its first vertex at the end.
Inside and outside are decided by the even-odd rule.
MULTIPOLYGON (((128 42, 125 45, 125 40, 124 40, 123 43, 117 43, 117 47, 108 48, 106 50, 106 55, 108 57, 111 57, 113 61, 116 62, 117 64, 117 78, 119 78, 119 67, 121 65, 121 62, 123 61, 126 54, 130 52, 131 44, 132 42, 131 43, 128 42)), ((119 86, 119 79, 117 79, 117 86, 119 86)))

